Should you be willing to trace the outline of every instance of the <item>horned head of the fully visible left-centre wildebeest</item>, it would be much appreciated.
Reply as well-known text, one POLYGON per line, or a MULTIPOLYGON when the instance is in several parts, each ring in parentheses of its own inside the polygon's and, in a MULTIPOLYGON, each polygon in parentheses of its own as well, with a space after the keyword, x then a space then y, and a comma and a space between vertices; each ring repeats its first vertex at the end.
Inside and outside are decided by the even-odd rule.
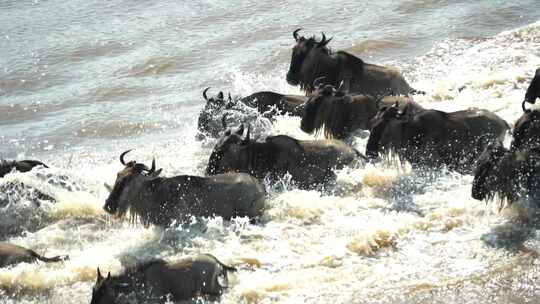
POLYGON ((106 186, 111 193, 105 201, 103 209, 110 214, 125 214, 131 203, 140 199, 137 195, 139 195, 143 183, 158 178, 161 173, 161 169, 156 170, 155 160, 152 160, 151 168, 135 161, 126 163, 124 156, 130 151, 127 150, 120 154, 120 162, 125 167, 118 172, 114 186, 106 186))

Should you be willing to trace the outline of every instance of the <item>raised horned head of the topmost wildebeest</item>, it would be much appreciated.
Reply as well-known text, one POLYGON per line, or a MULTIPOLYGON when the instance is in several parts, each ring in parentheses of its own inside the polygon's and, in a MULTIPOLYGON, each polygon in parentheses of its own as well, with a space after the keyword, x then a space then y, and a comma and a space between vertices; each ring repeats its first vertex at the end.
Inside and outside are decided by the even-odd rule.
POLYGON ((315 37, 305 38, 304 36, 299 36, 298 32, 300 30, 297 29, 293 32, 296 44, 292 49, 291 63, 287 72, 287 82, 294 86, 300 84, 307 91, 311 91, 313 89, 311 85, 315 77, 314 72, 316 72, 315 70, 310 70, 310 68, 313 69, 311 65, 317 64, 317 56, 321 55, 321 53, 324 55, 330 54, 330 49, 326 45, 332 38, 326 39, 323 33, 321 41, 316 41, 315 37), (309 67, 308 65, 303 67, 304 62, 309 62, 309 67))

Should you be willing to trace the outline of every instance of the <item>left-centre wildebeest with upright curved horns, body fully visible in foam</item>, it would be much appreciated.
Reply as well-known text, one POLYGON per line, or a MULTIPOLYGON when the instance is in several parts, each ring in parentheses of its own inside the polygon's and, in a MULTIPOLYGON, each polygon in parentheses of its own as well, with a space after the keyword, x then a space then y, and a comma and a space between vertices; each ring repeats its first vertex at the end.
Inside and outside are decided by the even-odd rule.
POLYGON ((103 207, 110 214, 124 215, 129 209, 142 224, 169 226, 191 216, 259 217, 265 205, 265 189, 249 174, 229 173, 210 177, 179 175, 160 177, 161 169, 130 161, 117 175, 103 207))

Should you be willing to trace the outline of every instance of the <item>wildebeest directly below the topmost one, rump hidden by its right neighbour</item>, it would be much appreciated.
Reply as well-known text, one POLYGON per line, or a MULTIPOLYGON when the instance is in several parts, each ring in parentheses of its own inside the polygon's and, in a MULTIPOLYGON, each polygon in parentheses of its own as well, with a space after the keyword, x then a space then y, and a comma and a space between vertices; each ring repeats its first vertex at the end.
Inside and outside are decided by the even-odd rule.
MULTIPOLYGON (((317 82, 317 81, 316 81, 317 82)), ((405 96, 348 95, 332 85, 317 85, 304 107, 300 128, 306 133, 324 128, 326 138, 344 139, 356 130, 369 130, 370 121, 383 106, 396 102, 400 110, 415 114, 422 106, 405 96)))

